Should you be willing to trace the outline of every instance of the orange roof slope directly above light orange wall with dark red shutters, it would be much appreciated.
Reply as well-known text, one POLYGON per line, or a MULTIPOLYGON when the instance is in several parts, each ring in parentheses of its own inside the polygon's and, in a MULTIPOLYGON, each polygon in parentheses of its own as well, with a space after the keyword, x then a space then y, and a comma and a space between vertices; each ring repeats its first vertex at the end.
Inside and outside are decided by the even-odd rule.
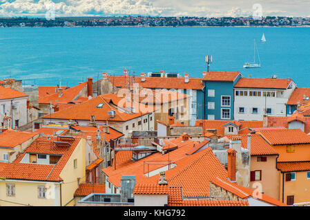
MULTIPOLYGON (((248 148, 248 135, 240 135, 241 144, 243 148, 248 148)), ((251 155, 278 155, 275 151, 258 133, 251 134, 251 155)))

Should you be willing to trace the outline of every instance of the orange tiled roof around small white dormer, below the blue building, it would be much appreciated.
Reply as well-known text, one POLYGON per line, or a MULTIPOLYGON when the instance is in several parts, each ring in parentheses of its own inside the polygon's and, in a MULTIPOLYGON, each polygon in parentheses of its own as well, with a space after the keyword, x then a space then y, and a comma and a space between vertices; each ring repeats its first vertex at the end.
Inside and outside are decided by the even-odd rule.
MULTIPOLYGON (((216 129, 216 135, 224 136, 224 125, 232 122, 231 120, 196 120, 195 126, 202 126, 204 133, 208 133, 208 129, 216 129)), ((240 123, 239 134, 251 133, 249 129, 261 128, 262 121, 242 121, 234 120, 235 123, 240 123)))

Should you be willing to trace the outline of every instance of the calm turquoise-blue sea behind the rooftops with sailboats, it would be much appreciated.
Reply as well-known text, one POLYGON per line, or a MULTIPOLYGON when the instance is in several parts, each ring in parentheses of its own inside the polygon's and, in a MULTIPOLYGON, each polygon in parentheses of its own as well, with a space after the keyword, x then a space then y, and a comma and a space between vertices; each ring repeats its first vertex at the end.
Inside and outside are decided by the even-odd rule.
MULTIPOLYGON (((178 72, 200 77, 211 70, 244 76, 293 78, 310 87, 310 28, 0 28, 0 78, 28 85, 74 86, 102 72, 119 75, 178 72), (267 43, 259 43, 262 34, 267 43), (256 40, 260 69, 253 61, 256 40)), ((256 57, 258 59, 258 57, 256 57)))

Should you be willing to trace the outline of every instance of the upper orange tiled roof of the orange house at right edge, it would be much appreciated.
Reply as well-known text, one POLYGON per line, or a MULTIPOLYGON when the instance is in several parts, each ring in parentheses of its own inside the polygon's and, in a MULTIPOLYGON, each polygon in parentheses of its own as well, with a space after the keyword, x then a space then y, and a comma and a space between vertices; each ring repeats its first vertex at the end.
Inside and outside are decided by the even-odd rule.
POLYGON ((300 129, 265 130, 260 133, 271 145, 310 144, 310 136, 300 129))

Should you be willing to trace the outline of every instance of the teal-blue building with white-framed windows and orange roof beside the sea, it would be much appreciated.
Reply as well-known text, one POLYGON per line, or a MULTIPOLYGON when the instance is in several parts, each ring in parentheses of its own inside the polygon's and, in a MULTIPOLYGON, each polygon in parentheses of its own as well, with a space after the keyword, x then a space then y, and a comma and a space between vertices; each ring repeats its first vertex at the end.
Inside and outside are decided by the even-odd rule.
POLYGON ((208 74, 203 79, 202 119, 233 120, 233 87, 242 74, 239 72, 209 72, 208 74))

